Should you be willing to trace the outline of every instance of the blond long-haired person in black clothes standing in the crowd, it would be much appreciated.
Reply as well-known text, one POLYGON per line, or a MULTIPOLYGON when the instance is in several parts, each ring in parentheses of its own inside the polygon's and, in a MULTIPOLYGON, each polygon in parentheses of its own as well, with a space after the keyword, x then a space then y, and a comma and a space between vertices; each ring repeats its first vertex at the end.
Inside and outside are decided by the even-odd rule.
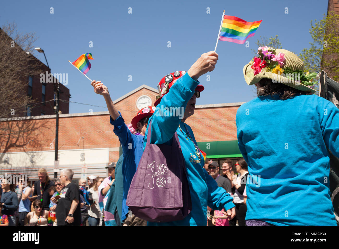
POLYGON ((46 169, 40 168, 38 171, 39 181, 34 183, 34 192, 32 197, 28 197, 28 200, 33 202, 36 198, 42 201, 43 210, 49 211, 49 203, 51 202, 51 196, 48 193, 48 189, 54 186, 54 183, 49 179, 46 169), (41 194, 42 193, 42 194, 41 194), (41 200, 42 199, 42 200, 41 200))

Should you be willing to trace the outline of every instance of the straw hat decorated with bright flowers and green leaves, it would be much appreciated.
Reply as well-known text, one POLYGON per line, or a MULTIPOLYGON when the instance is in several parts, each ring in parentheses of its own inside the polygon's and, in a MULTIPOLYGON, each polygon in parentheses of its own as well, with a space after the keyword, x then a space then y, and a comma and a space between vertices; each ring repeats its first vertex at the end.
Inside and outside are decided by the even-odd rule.
POLYGON ((315 72, 304 74, 304 63, 298 56, 285 49, 259 47, 258 56, 244 66, 247 85, 254 85, 261 79, 272 79, 273 83, 283 83, 293 88, 315 93, 311 88, 315 72))

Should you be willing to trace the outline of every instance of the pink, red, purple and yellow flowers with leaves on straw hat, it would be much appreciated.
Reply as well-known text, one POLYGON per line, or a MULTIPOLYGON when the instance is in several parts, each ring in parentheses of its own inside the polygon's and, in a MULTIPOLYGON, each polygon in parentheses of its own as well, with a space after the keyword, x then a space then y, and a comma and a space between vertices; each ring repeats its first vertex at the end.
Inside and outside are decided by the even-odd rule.
POLYGON ((291 75, 299 75, 300 80, 295 80, 300 82, 306 86, 312 86, 312 80, 317 77, 316 72, 304 72, 302 70, 292 70, 289 66, 285 66, 285 54, 284 53, 276 53, 276 50, 271 46, 264 46, 258 48, 258 55, 255 56, 250 64, 251 68, 254 71, 254 75, 259 74, 260 72, 272 72, 273 74, 284 74, 283 76, 289 78, 291 80, 295 80, 291 75))

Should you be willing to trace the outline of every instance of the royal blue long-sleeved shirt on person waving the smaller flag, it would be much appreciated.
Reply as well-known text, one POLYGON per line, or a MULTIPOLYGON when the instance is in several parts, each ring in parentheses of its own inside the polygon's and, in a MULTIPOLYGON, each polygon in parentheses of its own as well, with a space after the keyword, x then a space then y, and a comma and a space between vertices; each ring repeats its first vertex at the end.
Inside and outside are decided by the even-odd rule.
POLYGON ((142 141, 144 137, 132 134, 121 117, 120 112, 119 114, 120 116, 116 120, 113 120, 111 116, 109 116, 109 119, 111 124, 114 125, 113 131, 119 137, 119 141, 122 146, 122 175, 124 191, 122 197, 121 221, 124 221, 126 219, 126 214, 128 214, 128 206, 126 205, 127 194, 143 152, 142 141))

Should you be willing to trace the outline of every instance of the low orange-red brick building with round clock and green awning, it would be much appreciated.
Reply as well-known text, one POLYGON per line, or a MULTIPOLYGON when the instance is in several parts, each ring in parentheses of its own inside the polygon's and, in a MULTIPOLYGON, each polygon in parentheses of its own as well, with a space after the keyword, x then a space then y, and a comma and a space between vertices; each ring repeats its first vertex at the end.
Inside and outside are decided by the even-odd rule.
MULTIPOLYGON (((142 85, 114 103, 128 124, 139 109, 153 106, 157 95, 155 88, 142 85)), ((199 148, 207 153, 207 157, 219 163, 224 158, 241 157, 235 124, 236 112, 241 104, 196 105, 195 114, 186 120, 193 129, 199 148)), ((38 168, 44 167, 53 176, 55 118, 55 115, 45 115, 0 122, 28 122, 36 127, 30 134, 20 136, 19 142, 24 144, 21 147, 3 147, 4 138, 0 138, 0 174, 24 173, 35 181, 38 168)), ((109 162, 116 162, 122 153, 119 139, 109 123, 108 111, 59 115, 58 149, 60 169, 74 170, 74 179, 84 178, 86 174, 105 177, 107 172, 104 167, 109 162), (81 171, 84 164, 86 174, 81 171)))

